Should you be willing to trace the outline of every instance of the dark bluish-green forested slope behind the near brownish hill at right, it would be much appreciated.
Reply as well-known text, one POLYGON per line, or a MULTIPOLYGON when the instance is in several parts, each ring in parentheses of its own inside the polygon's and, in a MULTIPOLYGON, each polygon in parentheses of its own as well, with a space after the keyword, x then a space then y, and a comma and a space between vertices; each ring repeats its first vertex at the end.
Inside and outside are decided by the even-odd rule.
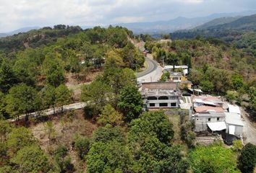
MULTIPOLYGON (((247 17, 241 17, 232 22, 222 25, 213 25, 195 28, 193 30, 184 30, 171 33, 172 39, 191 39, 198 36, 215 37, 226 43, 231 43, 236 48, 242 48, 244 52, 256 56, 255 37, 256 37, 256 14, 247 17)), ((206 25, 206 24, 205 24, 206 25)))

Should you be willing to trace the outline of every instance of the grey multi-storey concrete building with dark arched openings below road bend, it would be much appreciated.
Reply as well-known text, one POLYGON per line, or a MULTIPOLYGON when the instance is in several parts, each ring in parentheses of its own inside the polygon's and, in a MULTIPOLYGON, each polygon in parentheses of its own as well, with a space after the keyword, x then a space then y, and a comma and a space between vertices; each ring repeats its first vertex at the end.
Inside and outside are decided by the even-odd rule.
POLYGON ((142 83, 142 98, 148 109, 179 107, 182 96, 174 82, 142 83))

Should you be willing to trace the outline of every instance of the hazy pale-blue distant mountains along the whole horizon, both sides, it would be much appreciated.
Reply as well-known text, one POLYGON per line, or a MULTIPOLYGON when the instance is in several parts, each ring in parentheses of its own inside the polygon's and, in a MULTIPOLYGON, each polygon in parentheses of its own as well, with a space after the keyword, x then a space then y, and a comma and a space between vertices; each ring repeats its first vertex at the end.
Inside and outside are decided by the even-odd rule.
MULTIPOLYGON (((226 27, 228 27, 228 24, 230 22, 234 22, 236 21, 236 19, 240 19, 244 16, 252 14, 256 14, 256 10, 246 12, 211 14, 207 17, 177 17, 176 19, 170 19, 168 21, 119 23, 114 24, 113 26, 127 27, 129 30, 135 32, 135 34, 148 33, 151 35, 161 35, 163 33, 168 34, 177 30, 191 30, 194 28, 202 30, 209 27, 214 27, 216 25, 226 25, 226 27)), ((90 27, 93 26, 82 26, 82 29, 85 30, 90 27)), ((37 30, 39 28, 40 27, 23 27, 19 30, 14 30, 12 32, 0 33, 0 37, 6 37, 9 35, 18 34, 20 32, 27 32, 30 30, 37 30)))

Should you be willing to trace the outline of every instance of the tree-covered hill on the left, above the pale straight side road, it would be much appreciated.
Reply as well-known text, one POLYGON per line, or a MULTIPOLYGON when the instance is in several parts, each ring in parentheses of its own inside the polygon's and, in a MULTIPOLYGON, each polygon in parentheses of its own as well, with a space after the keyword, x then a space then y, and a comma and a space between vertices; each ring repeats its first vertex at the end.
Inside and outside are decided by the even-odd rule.
POLYGON ((90 71, 101 70, 103 63, 142 67, 144 58, 130 43, 132 37, 132 32, 121 27, 83 31, 56 25, 1 38, 0 117, 28 115, 71 102, 71 93, 62 85, 67 74, 86 81, 90 71))

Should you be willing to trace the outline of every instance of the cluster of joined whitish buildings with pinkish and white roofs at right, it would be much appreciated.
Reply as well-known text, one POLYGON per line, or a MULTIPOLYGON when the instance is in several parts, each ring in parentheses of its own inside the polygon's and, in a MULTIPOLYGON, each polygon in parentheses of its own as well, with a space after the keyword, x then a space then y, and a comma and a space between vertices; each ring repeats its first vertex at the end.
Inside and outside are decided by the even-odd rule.
POLYGON ((192 100, 195 132, 207 130, 221 132, 223 140, 228 144, 242 138, 244 123, 238 106, 226 104, 221 98, 209 95, 197 96, 192 100))

